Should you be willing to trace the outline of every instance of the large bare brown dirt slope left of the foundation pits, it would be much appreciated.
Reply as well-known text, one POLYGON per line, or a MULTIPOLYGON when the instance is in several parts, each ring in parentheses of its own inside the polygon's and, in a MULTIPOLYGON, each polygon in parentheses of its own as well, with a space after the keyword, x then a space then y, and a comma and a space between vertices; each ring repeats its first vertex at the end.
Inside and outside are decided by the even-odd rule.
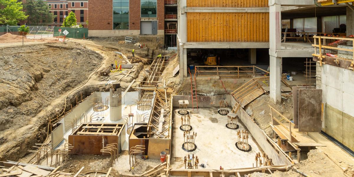
POLYGON ((0 160, 17 160, 42 142, 48 119, 62 112, 55 100, 86 81, 102 61, 75 42, 55 44, 67 48, 46 44, 0 48, 0 160), (49 106, 53 102, 56 107, 49 106))

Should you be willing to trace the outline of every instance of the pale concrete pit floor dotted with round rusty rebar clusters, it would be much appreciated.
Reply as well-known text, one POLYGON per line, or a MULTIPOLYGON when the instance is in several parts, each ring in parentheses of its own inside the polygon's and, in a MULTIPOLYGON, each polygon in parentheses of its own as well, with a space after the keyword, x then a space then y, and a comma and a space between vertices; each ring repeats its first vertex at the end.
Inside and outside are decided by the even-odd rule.
MULTIPOLYGON (((194 157, 198 156, 198 169, 202 169, 201 164, 204 164, 205 169, 219 169, 220 166, 224 169, 235 169, 252 167, 252 164, 256 166, 255 155, 263 151, 258 147, 257 142, 255 142, 250 133, 248 143, 252 149, 249 152, 244 152, 236 148, 235 143, 238 142, 238 130, 248 130, 238 118, 237 124, 239 125, 239 129, 233 130, 225 127, 228 123, 228 117, 227 115, 220 115, 218 107, 202 107, 198 109, 199 113, 189 114, 189 124, 193 127, 189 133, 190 135, 196 135, 192 139, 196 148, 192 152, 186 152, 182 149, 182 144, 186 141, 187 137, 184 136, 184 132, 180 129, 182 115, 178 114, 178 110, 176 107, 173 110, 174 123, 172 124, 172 152, 170 159, 172 169, 185 169, 184 157, 188 154, 191 157, 193 154, 194 157)), ((188 108, 187 110, 192 112, 192 108, 188 108)), ((184 119, 184 115, 182 118, 184 119)), ((188 116, 186 116, 187 118, 188 116)))

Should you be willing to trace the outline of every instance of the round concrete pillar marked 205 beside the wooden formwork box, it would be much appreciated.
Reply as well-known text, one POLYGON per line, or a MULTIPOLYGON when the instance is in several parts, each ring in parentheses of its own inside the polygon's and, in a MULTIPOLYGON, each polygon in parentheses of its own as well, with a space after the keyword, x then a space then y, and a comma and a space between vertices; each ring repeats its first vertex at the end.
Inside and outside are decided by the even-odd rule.
POLYGON ((118 121, 122 118, 122 88, 119 83, 112 84, 109 96, 109 119, 118 121))

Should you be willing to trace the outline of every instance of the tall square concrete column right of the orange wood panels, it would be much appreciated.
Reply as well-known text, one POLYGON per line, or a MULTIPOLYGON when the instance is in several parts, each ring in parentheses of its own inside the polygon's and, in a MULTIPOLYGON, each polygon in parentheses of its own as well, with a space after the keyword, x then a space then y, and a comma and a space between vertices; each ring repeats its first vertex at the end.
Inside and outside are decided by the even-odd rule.
POLYGON ((276 57, 279 50, 281 50, 281 6, 269 4, 269 95, 275 104, 281 103, 281 57, 276 57))

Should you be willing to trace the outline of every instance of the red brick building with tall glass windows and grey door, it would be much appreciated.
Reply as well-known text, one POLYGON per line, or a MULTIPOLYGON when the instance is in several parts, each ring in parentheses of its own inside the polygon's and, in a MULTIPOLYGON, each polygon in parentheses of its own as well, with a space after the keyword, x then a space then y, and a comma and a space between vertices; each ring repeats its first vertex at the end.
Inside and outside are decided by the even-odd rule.
POLYGON ((176 35, 177 0, 90 0, 89 22, 89 36, 176 35), (175 16, 166 20, 170 8, 175 16), (175 30, 165 31, 169 21, 175 30))

